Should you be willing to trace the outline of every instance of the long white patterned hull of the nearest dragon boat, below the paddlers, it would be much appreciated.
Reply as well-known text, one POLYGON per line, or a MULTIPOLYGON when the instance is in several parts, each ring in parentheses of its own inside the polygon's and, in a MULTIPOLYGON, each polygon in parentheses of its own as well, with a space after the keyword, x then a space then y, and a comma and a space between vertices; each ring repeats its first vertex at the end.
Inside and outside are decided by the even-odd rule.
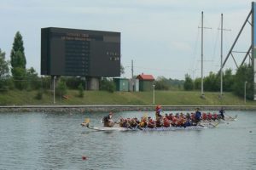
POLYGON ((89 122, 83 122, 82 127, 88 127, 96 131, 177 131, 177 130, 201 130, 217 127, 218 123, 203 123, 189 127, 96 127, 90 126, 89 122))

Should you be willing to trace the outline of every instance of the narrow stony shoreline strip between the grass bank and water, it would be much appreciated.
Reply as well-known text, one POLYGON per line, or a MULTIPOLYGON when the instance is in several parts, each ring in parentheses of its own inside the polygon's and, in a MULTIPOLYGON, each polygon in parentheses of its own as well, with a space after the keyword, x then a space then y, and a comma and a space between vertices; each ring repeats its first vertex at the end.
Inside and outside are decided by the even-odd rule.
MULTIPOLYGON (((256 105, 162 105, 163 111, 256 111, 256 105)), ((10 105, 0 106, 3 112, 109 112, 154 111, 155 105, 10 105)))

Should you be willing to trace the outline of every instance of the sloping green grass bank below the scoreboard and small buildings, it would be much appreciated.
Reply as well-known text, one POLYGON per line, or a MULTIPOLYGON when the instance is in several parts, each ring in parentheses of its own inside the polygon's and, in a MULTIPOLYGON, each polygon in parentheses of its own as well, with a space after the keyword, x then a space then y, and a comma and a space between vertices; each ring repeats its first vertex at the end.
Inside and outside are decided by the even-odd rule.
MULTIPOLYGON (((0 94, 0 105, 52 105, 52 92, 44 92, 43 99, 35 99, 38 91, 9 91, 0 94)), ((84 91, 79 98, 77 90, 68 90, 69 99, 55 97, 55 105, 152 105, 152 92, 114 92, 84 91)), ((218 93, 205 93, 201 99, 198 91, 155 91, 155 105, 244 105, 244 100, 231 93, 224 93, 218 99, 218 93)), ((247 100, 247 105, 256 102, 247 100)))

